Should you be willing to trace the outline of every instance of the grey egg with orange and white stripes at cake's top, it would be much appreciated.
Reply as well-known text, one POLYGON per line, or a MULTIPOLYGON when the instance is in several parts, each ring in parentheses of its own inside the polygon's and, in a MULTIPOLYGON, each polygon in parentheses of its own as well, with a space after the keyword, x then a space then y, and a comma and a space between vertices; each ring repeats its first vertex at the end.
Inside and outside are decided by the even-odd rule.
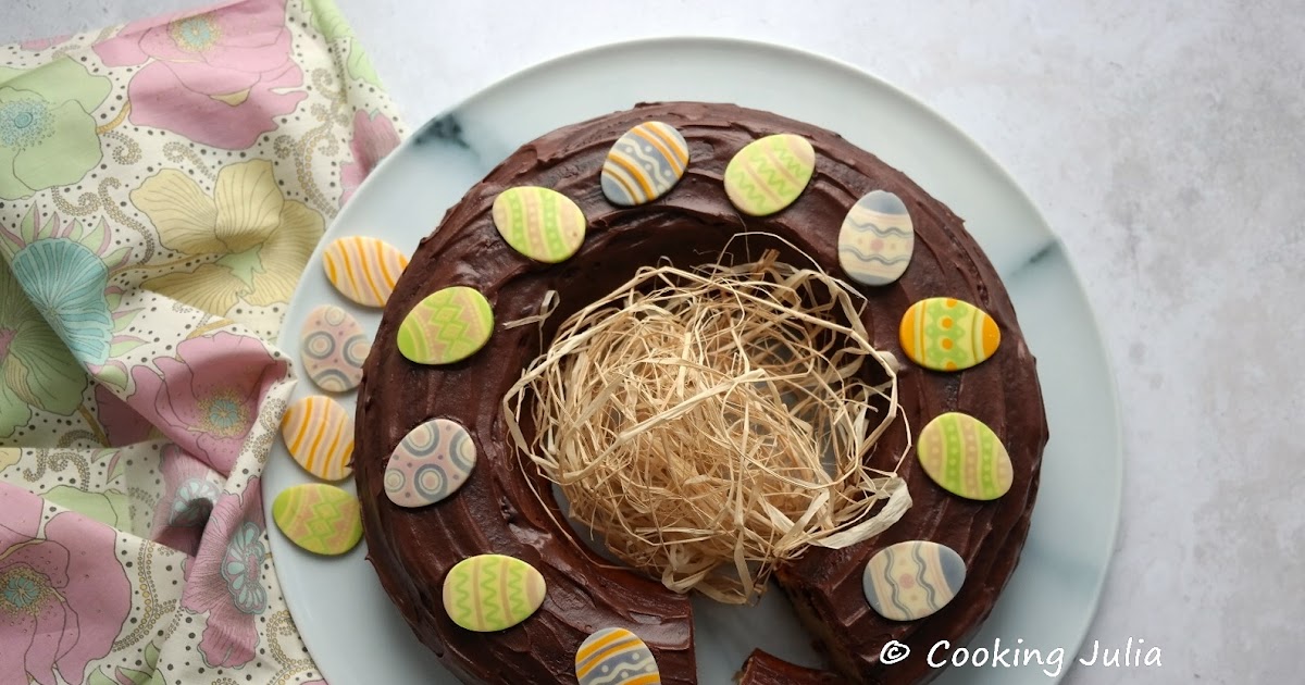
POLYGON ((600 177, 603 194, 625 207, 651 202, 675 187, 689 166, 689 145, 675 127, 639 124, 616 140, 600 177))

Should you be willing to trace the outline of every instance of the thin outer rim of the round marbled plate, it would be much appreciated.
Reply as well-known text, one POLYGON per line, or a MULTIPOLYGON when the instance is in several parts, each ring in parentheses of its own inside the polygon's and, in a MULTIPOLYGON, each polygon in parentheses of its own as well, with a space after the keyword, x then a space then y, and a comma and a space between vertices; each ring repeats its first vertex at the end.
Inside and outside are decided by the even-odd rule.
MULTIPOLYGON (((814 63, 816 65, 822 65, 825 68, 840 72, 842 76, 847 77, 851 81, 861 81, 863 84, 864 82, 869 82, 869 84, 873 84, 873 86, 876 86, 878 89, 882 89, 882 90, 885 90, 887 93, 891 93, 894 97, 900 98, 906 103, 908 103, 912 107, 915 107, 919 112, 927 114, 928 117, 930 119, 930 124, 932 125, 941 127, 942 129, 945 129, 951 136, 955 136, 959 141, 963 141, 966 145, 971 146, 971 149, 975 153, 979 154, 979 157, 983 159, 983 162, 985 162, 994 172, 997 172, 1001 176, 1000 180, 1002 181, 1002 185, 1005 185, 1005 187, 1007 187, 1009 189, 1013 190, 1011 197, 1015 198, 1018 202, 1023 204, 1024 207, 1028 210, 1030 215, 1036 217, 1037 223, 1039 223, 1039 228, 1047 235, 1049 243, 1053 247, 1056 247, 1057 249, 1060 249, 1061 253, 1065 256, 1065 260, 1064 260, 1065 267, 1069 270, 1069 275, 1071 277, 1073 283, 1075 286, 1075 295, 1082 300, 1083 308, 1084 308, 1084 311, 1087 313, 1087 317, 1088 317, 1087 322, 1091 325, 1091 329, 1092 329, 1091 347, 1094 350, 1099 351, 1100 355, 1101 355, 1101 363, 1104 365, 1104 371, 1105 371, 1105 376, 1107 376, 1105 377, 1105 388, 1104 388, 1104 390, 1107 393, 1107 397, 1111 401, 1109 415, 1111 415, 1111 420, 1113 423, 1113 429, 1111 431, 1109 438, 1113 441, 1113 446, 1114 446, 1114 449, 1113 449, 1114 464, 1111 468, 1111 472, 1108 474, 1108 476, 1109 476, 1109 484, 1111 484, 1111 488, 1112 488, 1112 493, 1111 493, 1112 497, 1111 497, 1111 501, 1109 501, 1111 506, 1109 506, 1109 511, 1108 511, 1108 514, 1111 517, 1111 521, 1109 521, 1109 523, 1107 526, 1108 530, 1107 530, 1107 535, 1105 535, 1105 540, 1104 540, 1105 541, 1105 549, 1104 549, 1104 553, 1100 556, 1100 558, 1101 558, 1101 573, 1095 579, 1094 586, 1091 588, 1091 608, 1090 608, 1090 611, 1087 613, 1087 621, 1084 622, 1082 630, 1079 630, 1078 634, 1077 634, 1077 637, 1075 637, 1075 643, 1073 646, 1074 648, 1069 650, 1069 646, 1067 645, 1065 646, 1066 647, 1066 654, 1075 654, 1079 648, 1082 648, 1082 645, 1087 639, 1087 634, 1091 630, 1092 625, 1095 624, 1096 617, 1098 617, 1098 615, 1100 612, 1105 582, 1109 578, 1112 568, 1113 568, 1114 552, 1116 552, 1116 547, 1117 547, 1117 543, 1118 543, 1120 528, 1121 528, 1121 525, 1122 525, 1122 495, 1124 495, 1124 461, 1125 461, 1124 458, 1125 458, 1125 450, 1124 450, 1122 406, 1121 406, 1120 394, 1118 394, 1118 382, 1117 382, 1117 374, 1116 374, 1117 373, 1116 364, 1114 364, 1113 359, 1111 358, 1109 348, 1105 346, 1105 341, 1104 341, 1104 337, 1103 337, 1103 329, 1101 329, 1101 325, 1100 325, 1100 317, 1096 313, 1096 309, 1094 308, 1091 299, 1087 296, 1087 288, 1084 287, 1083 278, 1079 274, 1079 270, 1075 266, 1074 261, 1065 252, 1065 249, 1064 249, 1064 241, 1061 240, 1060 235, 1052 228, 1051 223, 1047 222, 1047 218, 1037 209, 1037 205, 1028 196, 1027 190, 1024 190, 1024 188, 1017 181, 1017 179, 1014 177, 1014 175, 1010 174, 1010 171, 1006 168, 1006 166, 1002 164, 1000 162, 1000 159, 997 157, 994 157, 988 150, 987 146, 984 146, 981 142, 979 142, 972 136, 970 136, 968 133, 966 133, 957 124, 951 123, 949 119, 946 119, 945 116, 942 116, 937 110, 934 110, 924 99, 914 95, 912 93, 910 93, 907 90, 903 90, 900 86, 893 84, 891 81, 887 81, 887 80, 880 77, 878 74, 876 74, 876 73, 873 73, 873 72, 870 72, 868 69, 864 69, 861 67, 857 67, 855 64, 851 64, 851 63, 848 63, 846 60, 842 60, 839 57, 833 57, 833 56, 829 56, 829 55, 825 55, 825 53, 821 53, 821 52, 817 52, 817 51, 813 51, 813 50, 793 47, 793 46, 790 46, 790 44, 774 43, 774 42, 767 42, 767 40, 757 40, 757 39, 749 39, 749 38, 739 38, 739 37, 713 37, 713 35, 662 35, 662 37, 643 37, 643 38, 636 38, 636 39, 628 39, 628 40, 615 40, 615 42, 600 43, 600 44, 585 47, 585 48, 570 51, 570 52, 564 52, 564 53, 560 53, 560 55, 556 55, 556 56, 552 56, 552 57, 548 57, 548 59, 532 63, 532 64, 530 64, 530 65, 527 65, 527 67, 525 67, 522 69, 518 69, 515 72, 512 72, 512 73, 509 73, 506 76, 502 76, 500 78, 496 78, 496 80, 491 81, 489 84, 487 84, 487 85, 484 85, 484 86, 474 90, 472 93, 470 93, 468 95, 466 95, 462 99, 457 100, 455 103, 453 103, 450 106, 446 106, 445 108, 440 110, 433 116, 427 117, 420 125, 418 125, 418 127, 415 127, 415 128, 412 128, 410 130, 410 133, 407 134, 407 137, 403 141, 401 141, 401 144, 399 144, 398 147, 395 147, 390 154, 388 154, 384 159, 380 160, 380 163, 377 163, 372 168, 372 171, 367 175, 367 177, 363 180, 363 183, 355 190, 355 197, 358 194, 367 193, 368 188, 371 188, 375 183, 380 183, 377 179, 385 176, 384 174, 381 174, 381 171, 385 170, 385 168, 388 168, 389 164, 395 163, 395 159, 398 158, 398 154, 401 151, 407 150, 407 149, 414 147, 415 145, 418 145, 418 141, 422 138, 423 132, 425 132, 428 128, 431 128, 432 125, 437 124, 442 119, 446 119, 448 115, 454 114, 454 112, 462 110, 468 103, 474 103, 478 99, 485 98, 485 97, 492 95, 493 93, 501 91, 504 89, 510 89, 514 84, 519 84, 522 81, 527 81, 530 78, 534 78, 534 77, 536 77, 538 74, 540 74, 543 72, 549 72, 549 70, 553 70, 553 69, 564 68, 569 63, 591 60, 591 59, 595 59, 595 57, 600 57, 604 53, 612 53, 612 52, 637 51, 637 50, 646 50, 646 48, 650 48, 650 47, 663 47, 666 50, 673 50, 676 46, 692 46, 692 47, 697 47, 697 48, 727 48, 729 51, 765 51, 765 52, 770 52, 770 53, 774 53, 774 55, 791 56, 791 57, 805 60, 808 63, 814 63)), ((326 239, 328 239, 328 236, 331 235, 331 231, 337 226, 346 224, 348 222, 348 219, 351 218, 351 215, 354 214, 352 207, 358 207, 358 206, 360 206, 360 204, 358 204, 358 202, 346 204, 343 207, 341 207, 341 211, 335 215, 335 218, 330 221, 330 223, 328 224, 326 230, 322 234, 322 239, 318 241, 317 247, 313 249, 313 253, 308 258, 308 262, 307 262, 305 270, 304 270, 305 275, 307 275, 308 269, 311 269, 321 258, 321 253, 322 253, 324 248, 328 244, 326 239)), ((354 235, 354 234, 348 234, 348 235, 354 235)), ((300 277, 300 282, 299 282, 299 284, 295 286, 295 292, 291 295, 291 300, 290 300, 291 303, 300 294, 300 288, 303 287, 303 283, 307 279, 304 277, 300 277)), ((287 305, 287 314, 288 314, 288 305, 287 305)), ((284 348, 283 342, 287 339, 287 337, 292 337, 295 334, 294 333, 295 330, 298 330, 298 329, 295 329, 294 326, 290 326, 290 325, 287 325, 287 324, 283 322, 282 324, 281 334, 277 337, 277 341, 275 341, 277 347, 278 348, 284 348)), ((260 489, 264 489, 264 488, 268 488, 268 487, 269 487, 268 485, 268 479, 262 478, 260 480, 260 489)), ((1041 495, 1041 493, 1039 493, 1039 495, 1041 495)), ((268 518, 271 518, 271 502, 273 502, 274 498, 275 498, 275 493, 269 493, 266 491, 262 492, 262 505, 264 505, 264 509, 265 509, 265 515, 268 518)), ((1031 525, 1036 522, 1036 517, 1037 517, 1037 508, 1036 508, 1036 502, 1035 502, 1035 508, 1034 508, 1034 511, 1032 511, 1031 518, 1030 518, 1031 525)), ((269 552, 271 553, 273 557, 275 556, 278 548, 288 549, 290 547, 292 547, 292 543, 290 543, 288 540, 281 539, 281 536, 273 534, 270 530, 268 532, 269 532, 269 552)), ((291 618, 294 620, 294 616, 296 613, 294 607, 298 604, 298 600, 292 600, 291 599, 291 592, 286 592, 284 591, 284 588, 287 587, 287 583, 286 583, 286 578, 283 577, 282 570, 281 570, 282 565, 273 562, 273 568, 275 570, 277 579, 278 579, 278 582, 282 586, 282 596, 283 596, 283 599, 286 601, 286 607, 290 611, 291 618)), ((1009 591, 1009 588, 1006 588, 1005 591, 1009 591)), ((979 626, 976 626, 976 630, 979 628, 981 628, 981 625, 983 624, 980 624, 979 626)), ((309 639, 303 634, 301 630, 299 630, 299 634, 300 634, 300 639, 303 639, 303 642, 304 642, 304 646, 308 647, 309 639)), ((312 648, 311 647, 308 648, 308 654, 312 655, 312 648)), ((313 662, 316 664, 316 659, 313 662)), ((1071 659, 1070 660, 1070 668, 1064 669, 1057 677, 1052 678, 1051 681, 1054 682, 1054 681, 1062 680, 1066 673, 1069 673, 1070 671, 1073 671, 1073 664, 1074 664, 1074 660, 1071 659)), ((322 673, 320 664, 317 664, 317 671, 321 675, 321 677, 328 677, 325 673, 322 673)))

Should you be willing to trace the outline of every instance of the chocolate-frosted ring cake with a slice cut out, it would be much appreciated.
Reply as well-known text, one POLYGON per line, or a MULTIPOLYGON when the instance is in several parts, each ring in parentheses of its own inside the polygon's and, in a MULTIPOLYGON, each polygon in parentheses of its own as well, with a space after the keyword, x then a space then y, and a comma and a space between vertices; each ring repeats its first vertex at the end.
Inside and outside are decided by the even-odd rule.
MULTIPOLYGON (((656 147, 663 153, 676 146, 671 136, 660 144, 656 147)), ((671 153, 675 157, 675 150, 671 153)), ((787 174, 782 167, 761 168, 761 184, 766 174, 787 174)), ((885 643, 923 647, 941 639, 963 642, 990 612, 1024 544, 1048 431, 1035 360, 1015 312, 963 222, 903 174, 835 133, 731 104, 641 104, 551 132, 522 146, 472 187, 412 256, 385 305, 364 368, 354 470, 368 556, 416 635, 463 681, 591 682, 577 676, 583 656, 577 652, 583 648, 595 659, 615 659, 620 654, 599 654, 602 645, 594 638, 611 641, 626 630, 655 659, 656 675, 611 682, 658 682, 658 677, 673 684, 698 681, 689 598, 637 571, 612 568, 573 540, 560 509, 548 501, 551 483, 526 466, 509 438, 502 399, 570 314, 629 281, 641 266, 659 260, 680 266, 714 262, 740 232, 782 239, 771 244, 758 237, 750 244, 753 251, 773 248, 792 264, 804 258, 800 251, 829 274, 856 282, 867 300, 863 322, 874 347, 902 361, 898 401, 906 420, 891 424, 869 459, 893 464, 906 451, 898 475, 914 500, 886 532, 842 549, 812 547, 776 569, 779 586, 827 662, 823 671, 799 668, 756 652, 746 665, 739 664, 741 682, 924 681, 937 673, 925 663, 927 648, 885 665, 880 662, 885 643), (613 145, 633 128, 654 121, 683 136, 688 159, 680 158, 677 181, 672 180, 668 190, 641 187, 636 168, 617 179, 624 189, 608 183, 604 192, 600 175, 613 145), (780 209, 763 206, 775 198, 761 188, 753 197, 762 205, 757 210, 746 192, 737 187, 727 192, 727 167, 749 144, 780 133, 809 142, 813 170, 809 181, 799 184, 796 200, 780 209), (551 189, 573 202, 578 214, 560 204, 553 219, 565 237, 566 222, 581 217, 582 241, 530 248, 529 240, 514 240, 496 227, 496 200, 522 187, 551 189), (868 286, 864 283, 873 278, 855 278, 840 260, 839 228, 859 200, 874 190, 891 193, 904 205, 914 251, 899 278, 868 286), (458 290, 446 290, 453 287, 458 290), (549 291, 556 292, 559 307, 542 331, 535 325, 502 325, 538 314, 549 291), (433 307, 431 297, 444 294, 471 297, 468 311, 492 313, 492 324, 483 316, 475 318, 485 331, 472 335, 478 339, 470 352, 424 359, 436 364, 415 363, 412 356, 420 354, 414 351, 429 351, 440 341, 414 338, 405 321, 415 309, 433 307), (959 317, 930 318, 928 307, 938 301, 947 307, 968 303, 979 312, 967 320, 972 330, 964 331, 962 341, 981 352, 971 360, 977 361, 972 367, 958 367, 945 354, 930 360, 912 350, 920 344, 915 335, 928 337, 929 326, 960 325, 959 317), (998 337, 1000 347, 993 351, 998 337), (954 412, 964 420, 954 420, 954 412), (940 419, 944 416, 947 421, 940 419), (388 485, 390 492, 397 487, 388 483, 388 464, 406 436, 433 419, 465 429, 465 436, 458 434, 470 438, 474 470, 450 470, 466 478, 442 501, 401 506, 388 495, 388 485), (936 420, 946 425, 936 431, 938 434, 921 436, 936 420), (907 451, 912 437, 916 445, 907 451), (966 463, 930 462, 933 451, 951 449, 940 446, 947 441, 951 448, 960 445, 955 449, 964 454, 972 448, 985 459, 997 453, 1001 458, 981 461, 981 472, 971 472, 974 464, 963 458, 966 463), (891 551, 899 548, 893 545, 911 541, 936 543, 933 548, 945 553, 934 558, 933 570, 912 566, 919 575, 903 578, 899 586, 893 575, 897 564, 910 565, 911 560, 894 558, 891 551), (472 575, 470 590, 459 594, 454 588, 452 601, 466 600, 467 594, 482 590, 480 583, 485 592, 501 590, 504 604, 517 607, 500 607, 504 612, 526 616, 501 624, 479 613, 450 616, 445 608, 448 582, 462 578, 467 560, 478 557, 495 564, 512 561, 529 573, 513 575, 515 568, 504 565, 499 575, 472 575), (874 569, 889 569, 883 582, 894 592, 941 583, 955 596, 927 616, 895 615, 910 609, 910 601, 890 596, 877 604, 878 581, 870 579, 874 569), (927 570, 938 575, 927 577, 927 570), (518 585, 509 587, 509 579, 518 585), (502 587, 491 587, 493 583, 502 587)), ((744 258, 724 253, 726 258, 744 258)), ((869 261, 881 266, 897 262, 873 256, 869 261)), ((942 347, 951 350, 951 344, 942 347)), ((955 457, 946 454, 947 459, 955 457)), ((923 548, 911 549, 919 553, 923 548)), ((470 571, 479 573, 476 568, 470 571)), ((602 668, 609 665, 603 662, 602 668)))

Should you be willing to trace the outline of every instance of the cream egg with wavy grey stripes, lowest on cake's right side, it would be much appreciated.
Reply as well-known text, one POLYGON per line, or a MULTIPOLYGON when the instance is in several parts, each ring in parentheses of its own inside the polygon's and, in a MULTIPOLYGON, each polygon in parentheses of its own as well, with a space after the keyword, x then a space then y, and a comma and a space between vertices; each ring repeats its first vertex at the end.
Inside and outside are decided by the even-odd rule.
POLYGON ((861 590, 880 616, 914 621, 946 607, 964 581, 966 562, 950 547, 908 540, 870 557, 861 575, 861 590))

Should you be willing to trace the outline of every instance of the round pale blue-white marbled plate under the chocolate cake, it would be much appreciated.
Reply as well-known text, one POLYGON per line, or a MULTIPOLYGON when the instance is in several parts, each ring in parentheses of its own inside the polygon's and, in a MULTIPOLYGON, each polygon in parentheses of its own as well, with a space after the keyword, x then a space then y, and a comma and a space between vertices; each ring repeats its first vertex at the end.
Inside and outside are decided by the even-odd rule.
MULTIPOLYGON (((829 128, 966 218, 1005 279, 1037 356, 1052 433, 1023 558, 970 645, 990 650, 1000 638, 1002 648, 1037 648, 1044 659, 1060 647, 1064 659, 1058 668, 950 668, 938 682, 1043 685, 1062 676, 1096 609, 1118 525, 1122 454, 1113 376, 1082 286, 1047 222, 990 157, 914 98, 851 67, 758 43, 690 38, 590 50, 506 78, 424 125, 372 174, 322 245, 365 235, 411 253, 445 210, 519 145, 564 124, 667 99, 733 102, 829 128)), ((281 347, 291 359, 299 359, 304 317, 322 303, 347 307, 372 330, 380 320, 378 311, 354 307, 331 288, 318 251, 286 316, 281 347)), ((311 393, 304 381, 296 397, 311 393)), ((352 395, 341 399, 352 412, 352 395)), ((264 478, 269 518, 278 492, 311 480, 279 442, 273 451, 264 478)), ((322 558, 273 530, 271 548, 295 622, 331 685, 457 682, 412 637, 363 545, 322 558)), ((778 592, 749 609, 709 603, 698 609, 703 684, 731 682, 753 647, 820 663, 778 592)), ((908 647, 919 655, 933 645, 908 647)), ((950 656, 954 651, 936 652, 937 660, 950 656)))

